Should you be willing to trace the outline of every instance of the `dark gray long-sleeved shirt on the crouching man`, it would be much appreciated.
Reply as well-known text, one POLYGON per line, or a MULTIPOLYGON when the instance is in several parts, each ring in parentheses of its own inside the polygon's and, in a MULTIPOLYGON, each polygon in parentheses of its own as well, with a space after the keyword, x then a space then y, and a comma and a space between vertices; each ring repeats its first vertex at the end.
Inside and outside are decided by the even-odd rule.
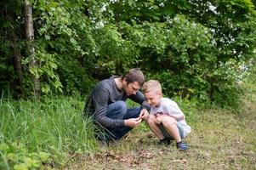
POLYGON ((85 107, 85 109, 89 109, 88 112, 93 114, 94 120, 99 122, 103 127, 124 126, 124 120, 112 119, 106 116, 108 105, 111 105, 114 102, 119 100, 125 101, 129 98, 134 102, 139 103, 147 110, 150 108, 150 106, 145 102, 144 95, 140 91, 137 91, 135 95, 128 96, 124 91, 117 88, 114 78, 116 77, 110 77, 97 83, 92 94, 89 96, 85 107))

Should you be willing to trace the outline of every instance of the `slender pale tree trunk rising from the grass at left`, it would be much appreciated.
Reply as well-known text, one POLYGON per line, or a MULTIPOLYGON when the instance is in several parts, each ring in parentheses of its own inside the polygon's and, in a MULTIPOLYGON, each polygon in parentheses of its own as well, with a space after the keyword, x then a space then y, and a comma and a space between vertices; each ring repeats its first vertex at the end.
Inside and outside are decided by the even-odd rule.
MULTIPOLYGON (((31 4, 26 1, 25 6, 25 14, 26 14, 26 20, 25 20, 25 30, 26 30, 26 39, 29 41, 28 50, 31 56, 31 62, 30 62, 30 68, 37 67, 37 60, 35 59, 35 48, 32 45, 32 42, 34 40, 34 29, 33 29, 33 20, 32 20, 32 6, 31 4)), ((33 75, 33 84, 34 84, 34 91, 36 97, 40 96, 40 77, 36 77, 33 75)))

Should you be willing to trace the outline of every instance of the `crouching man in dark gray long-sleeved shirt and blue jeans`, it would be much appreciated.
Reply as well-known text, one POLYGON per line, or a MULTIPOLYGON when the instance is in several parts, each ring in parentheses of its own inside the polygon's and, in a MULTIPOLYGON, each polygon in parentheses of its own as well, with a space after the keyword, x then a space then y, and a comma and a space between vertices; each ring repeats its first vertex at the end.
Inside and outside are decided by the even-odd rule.
POLYGON ((98 139, 106 142, 121 139, 148 115, 150 105, 139 92, 144 82, 142 71, 131 69, 122 77, 110 77, 96 84, 84 113, 92 116, 95 124, 103 130, 104 133, 98 134, 98 139), (128 109, 126 99, 132 99, 142 106, 128 109))

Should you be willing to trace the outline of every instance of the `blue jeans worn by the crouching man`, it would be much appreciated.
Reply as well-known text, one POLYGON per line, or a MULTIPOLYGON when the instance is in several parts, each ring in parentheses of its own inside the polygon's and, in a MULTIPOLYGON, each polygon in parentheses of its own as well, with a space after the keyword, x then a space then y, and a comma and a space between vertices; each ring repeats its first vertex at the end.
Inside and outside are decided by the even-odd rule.
MULTIPOLYGON (((108 105, 106 116, 112 119, 126 120, 129 118, 136 118, 139 116, 141 107, 135 107, 128 109, 125 101, 117 101, 108 105)), ((105 134, 107 139, 121 139, 126 133, 132 130, 132 127, 105 127, 105 134)))

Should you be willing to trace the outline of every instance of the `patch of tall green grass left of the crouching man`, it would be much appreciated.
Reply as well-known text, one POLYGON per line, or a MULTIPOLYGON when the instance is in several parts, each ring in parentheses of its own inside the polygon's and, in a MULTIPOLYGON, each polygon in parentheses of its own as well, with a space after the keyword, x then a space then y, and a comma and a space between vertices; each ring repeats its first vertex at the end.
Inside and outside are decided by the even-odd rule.
POLYGON ((0 142, 22 144, 28 152, 51 155, 92 152, 96 149, 94 125, 82 119, 83 105, 78 97, 1 99, 0 142))

